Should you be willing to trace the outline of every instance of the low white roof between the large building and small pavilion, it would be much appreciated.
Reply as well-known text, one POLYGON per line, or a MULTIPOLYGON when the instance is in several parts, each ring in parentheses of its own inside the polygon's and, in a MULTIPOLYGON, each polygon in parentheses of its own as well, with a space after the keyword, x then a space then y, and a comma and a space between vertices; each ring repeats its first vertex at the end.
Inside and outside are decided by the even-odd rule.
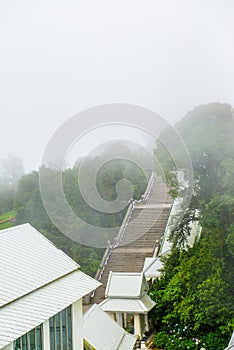
POLYGON ((96 350, 132 350, 136 337, 125 332, 97 304, 83 316, 84 339, 96 350))

